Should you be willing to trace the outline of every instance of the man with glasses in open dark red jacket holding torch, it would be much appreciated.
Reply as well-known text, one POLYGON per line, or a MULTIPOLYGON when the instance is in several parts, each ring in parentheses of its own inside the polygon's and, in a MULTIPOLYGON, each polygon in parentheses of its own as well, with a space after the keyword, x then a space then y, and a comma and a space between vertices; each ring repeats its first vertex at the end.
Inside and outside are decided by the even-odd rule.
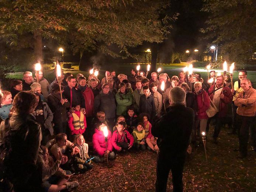
POLYGON ((214 128, 214 134, 212 136, 213 143, 217 144, 217 138, 219 136, 219 132, 221 131, 221 126, 223 121, 226 117, 228 111, 228 104, 232 101, 232 93, 225 84, 223 84, 223 76, 216 77, 216 83, 211 85, 208 90, 208 95, 210 99, 214 103, 215 107, 217 108, 217 114, 212 118, 209 118, 207 121, 206 132, 209 130, 209 125, 211 119, 215 118, 216 124, 214 128), (224 85, 224 86, 223 86, 224 85))

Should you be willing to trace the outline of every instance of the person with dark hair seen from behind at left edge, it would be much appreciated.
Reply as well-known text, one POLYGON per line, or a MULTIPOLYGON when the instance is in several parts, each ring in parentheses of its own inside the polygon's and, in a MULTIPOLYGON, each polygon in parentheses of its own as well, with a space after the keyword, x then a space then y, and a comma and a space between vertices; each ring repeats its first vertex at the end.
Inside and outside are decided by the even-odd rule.
POLYGON ((31 115, 37 104, 34 93, 20 91, 13 101, 15 112, 5 120, 8 123, 3 121, 0 125, 0 140, 9 148, 4 158, 4 177, 13 184, 14 191, 40 191, 41 126, 31 115))

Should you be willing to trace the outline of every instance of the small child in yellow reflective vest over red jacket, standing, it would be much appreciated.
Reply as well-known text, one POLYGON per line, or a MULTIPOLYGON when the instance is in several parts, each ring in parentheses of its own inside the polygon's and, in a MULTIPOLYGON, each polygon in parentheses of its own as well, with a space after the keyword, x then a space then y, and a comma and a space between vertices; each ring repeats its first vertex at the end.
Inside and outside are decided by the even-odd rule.
POLYGON ((82 111, 80 111, 80 104, 72 108, 72 116, 70 116, 69 128, 71 135, 83 134, 86 129, 86 117, 82 111))

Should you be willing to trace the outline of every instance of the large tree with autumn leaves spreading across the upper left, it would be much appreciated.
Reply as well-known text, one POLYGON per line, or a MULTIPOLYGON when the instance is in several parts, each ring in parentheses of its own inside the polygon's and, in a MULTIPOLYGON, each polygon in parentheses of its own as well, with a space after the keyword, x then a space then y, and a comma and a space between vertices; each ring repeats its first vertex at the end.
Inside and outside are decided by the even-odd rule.
POLYGON ((166 0, 0 0, 0 38, 18 45, 21 35, 30 35, 39 61, 42 38, 69 42, 74 53, 100 49, 114 57, 134 56, 128 47, 159 43, 170 33, 172 18, 159 18, 166 6, 166 0))

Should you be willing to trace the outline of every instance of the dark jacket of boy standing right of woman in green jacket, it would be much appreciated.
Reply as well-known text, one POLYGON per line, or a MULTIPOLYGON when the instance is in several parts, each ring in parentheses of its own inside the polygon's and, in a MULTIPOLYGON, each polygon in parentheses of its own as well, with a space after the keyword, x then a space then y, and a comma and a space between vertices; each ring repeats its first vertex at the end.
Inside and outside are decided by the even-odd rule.
POLYGON ((149 119, 156 116, 156 107, 153 94, 150 94, 147 98, 145 94, 139 98, 139 113, 146 113, 149 115, 149 119))

